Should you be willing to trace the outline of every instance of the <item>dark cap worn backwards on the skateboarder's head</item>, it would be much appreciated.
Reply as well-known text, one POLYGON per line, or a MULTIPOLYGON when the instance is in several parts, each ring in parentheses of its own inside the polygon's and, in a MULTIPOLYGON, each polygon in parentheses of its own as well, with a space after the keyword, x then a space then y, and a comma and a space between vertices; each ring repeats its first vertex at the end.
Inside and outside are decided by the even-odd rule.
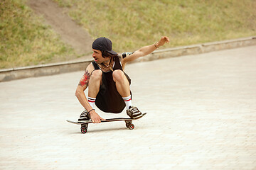
POLYGON ((112 55, 117 55, 117 52, 112 50, 111 40, 105 37, 97 38, 94 42, 92 42, 92 49, 107 51, 112 55))

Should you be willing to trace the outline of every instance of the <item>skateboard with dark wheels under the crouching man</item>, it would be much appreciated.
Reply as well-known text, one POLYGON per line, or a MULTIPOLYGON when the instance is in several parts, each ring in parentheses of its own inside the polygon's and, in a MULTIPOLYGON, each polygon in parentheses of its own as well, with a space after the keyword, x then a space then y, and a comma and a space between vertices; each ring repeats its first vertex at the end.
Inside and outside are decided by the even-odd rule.
MULTIPOLYGON (((142 118, 144 115, 146 115, 146 113, 143 113, 139 118, 110 118, 110 119, 106 119, 106 120, 101 120, 101 123, 106 123, 106 122, 116 122, 116 121, 124 121, 125 125, 127 128, 129 128, 130 130, 134 129, 134 124, 132 124, 132 120, 137 120, 142 118)), ((74 121, 70 121, 67 120, 68 123, 73 123, 76 125, 81 125, 81 132, 82 133, 86 133, 87 132, 87 128, 88 128, 88 124, 92 123, 92 120, 86 120, 83 123, 78 123, 78 122, 74 122, 74 121)))

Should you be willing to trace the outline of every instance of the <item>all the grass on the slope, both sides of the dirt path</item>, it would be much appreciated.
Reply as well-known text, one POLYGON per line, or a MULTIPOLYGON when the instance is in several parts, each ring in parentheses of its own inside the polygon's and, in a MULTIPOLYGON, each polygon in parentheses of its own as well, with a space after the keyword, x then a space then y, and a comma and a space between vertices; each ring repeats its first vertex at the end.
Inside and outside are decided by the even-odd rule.
MULTIPOLYGON (((93 38, 117 52, 137 50, 167 35, 165 47, 256 35, 255 0, 54 0, 93 38)), ((0 1, 0 68, 78 57, 26 0, 0 1)))

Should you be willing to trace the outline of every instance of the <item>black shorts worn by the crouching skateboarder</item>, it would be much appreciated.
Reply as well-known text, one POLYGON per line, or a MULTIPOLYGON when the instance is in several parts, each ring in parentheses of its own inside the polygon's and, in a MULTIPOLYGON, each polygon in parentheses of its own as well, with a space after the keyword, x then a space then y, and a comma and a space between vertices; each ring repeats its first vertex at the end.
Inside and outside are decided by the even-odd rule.
MULTIPOLYGON (((125 108, 125 103, 117 91, 112 74, 113 72, 102 72, 102 84, 96 96, 95 104, 97 108, 106 113, 121 113, 125 108)), ((129 79, 128 75, 126 73, 124 75, 127 77, 129 84, 131 84, 131 79, 129 79)))

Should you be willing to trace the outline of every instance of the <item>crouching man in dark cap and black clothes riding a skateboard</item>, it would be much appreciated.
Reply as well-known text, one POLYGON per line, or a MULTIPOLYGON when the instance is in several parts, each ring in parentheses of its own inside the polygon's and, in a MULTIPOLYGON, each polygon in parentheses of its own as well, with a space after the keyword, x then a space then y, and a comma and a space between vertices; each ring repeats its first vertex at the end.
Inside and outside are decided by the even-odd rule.
POLYGON ((100 123, 105 120, 95 112, 95 105, 107 113, 121 113, 126 107, 130 118, 141 116, 139 109, 132 106, 132 93, 129 89, 131 79, 124 73, 124 66, 127 62, 149 55, 166 42, 169 42, 169 38, 162 37, 159 42, 141 47, 135 52, 118 55, 112 50, 111 40, 97 38, 92 43, 92 57, 95 61, 87 66, 75 91, 75 96, 85 108, 78 122, 91 119, 93 123, 100 123), (84 91, 87 87, 86 98, 84 91))

